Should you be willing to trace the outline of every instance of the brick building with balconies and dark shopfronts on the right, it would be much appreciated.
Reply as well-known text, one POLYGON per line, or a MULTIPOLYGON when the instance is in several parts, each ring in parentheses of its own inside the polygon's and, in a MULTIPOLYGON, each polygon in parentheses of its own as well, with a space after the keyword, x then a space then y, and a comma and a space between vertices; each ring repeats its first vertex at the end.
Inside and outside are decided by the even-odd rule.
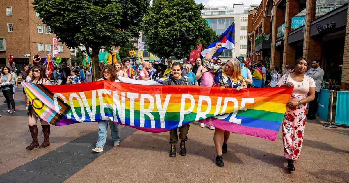
POLYGON ((247 54, 282 68, 302 56, 320 59, 325 78, 349 90, 348 1, 262 0, 248 12, 247 54))

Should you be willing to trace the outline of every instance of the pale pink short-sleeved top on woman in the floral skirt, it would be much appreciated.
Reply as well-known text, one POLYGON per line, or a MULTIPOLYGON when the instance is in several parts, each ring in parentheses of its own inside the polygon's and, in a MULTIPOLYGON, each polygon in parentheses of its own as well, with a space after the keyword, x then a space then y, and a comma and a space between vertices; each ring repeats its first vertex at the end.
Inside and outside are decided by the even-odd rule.
MULTIPOLYGON (((285 81, 285 77, 286 75, 283 75, 279 82, 277 83, 277 85, 281 86, 284 84, 284 81, 285 81)), ((309 92, 309 89, 310 87, 315 87, 315 82, 314 82, 314 79, 309 77, 309 76, 306 76, 304 75, 304 78, 303 78, 303 81, 302 82, 296 82, 295 80, 293 80, 291 78, 290 75, 288 75, 287 77, 287 81, 286 83, 288 82, 291 82, 293 83, 295 86, 293 88, 293 91, 292 91, 292 95, 307 95, 308 92, 309 92)))

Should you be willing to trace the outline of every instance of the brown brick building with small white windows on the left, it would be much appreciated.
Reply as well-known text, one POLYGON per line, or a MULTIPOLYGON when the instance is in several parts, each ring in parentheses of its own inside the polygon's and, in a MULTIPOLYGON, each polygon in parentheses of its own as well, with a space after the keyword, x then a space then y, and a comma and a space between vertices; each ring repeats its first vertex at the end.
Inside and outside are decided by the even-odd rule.
MULTIPOLYGON (((32 0, 0 1, 0 66, 9 66, 9 55, 18 71, 23 64, 33 63, 34 54, 39 54, 43 62, 46 54, 53 51, 50 27, 43 24, 35 12, 32 0)), ((70 62, 70 49, 58 43, 59 56, 70 62)))

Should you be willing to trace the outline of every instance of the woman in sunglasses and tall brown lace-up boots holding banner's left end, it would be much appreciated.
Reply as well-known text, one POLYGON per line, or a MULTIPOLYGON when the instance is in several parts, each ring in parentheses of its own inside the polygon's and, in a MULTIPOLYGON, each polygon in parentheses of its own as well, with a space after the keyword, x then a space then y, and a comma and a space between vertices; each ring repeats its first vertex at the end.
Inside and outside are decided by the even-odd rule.
MULTIPOLYGON (((45 74, 45 69, 42 66, 34 66, 32 68, 33 75, 29 81, 29 83, 35 83, 35 84, 51 84, 50 80, 46 77, 45 74)), ((33 99, 31 102, 29 102, 29 108, 28 108, 28 125, 29 125, 29 131, 31 134, 32 142, 31 144, 26 147, 27 150, 32 150, 35 147, 39 146, 38 142, 38 127, 36 125, 38 121, 38 114, 35 112, 34 108, 32 105, 34 105, 34 100, 33 99)), ((40 119, 40 118, 39 118, 40 119)), ((41 127, 43 128, 43 133, 44 133, 44 142, 39 146, 39 148, 45 148, 50 145, 50 125, 49 123, 43 121, 40 119, 41 122, 41 127)))

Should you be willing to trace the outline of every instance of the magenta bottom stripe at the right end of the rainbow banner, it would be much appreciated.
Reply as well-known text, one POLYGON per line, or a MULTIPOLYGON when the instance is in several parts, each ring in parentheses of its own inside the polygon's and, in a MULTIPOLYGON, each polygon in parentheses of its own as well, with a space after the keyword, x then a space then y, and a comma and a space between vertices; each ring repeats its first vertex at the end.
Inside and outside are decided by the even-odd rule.
POLYGON ((240 124, 217 119, 215 117, 209 117, 207 119, 200 120, 199 122, 205 123, 210 126, 214 126, 215 128, 231 131, 234 133, 251 135, 251 136, 265 138, 272 141, 275 141, 277 137, 277 131, 274 131, 274 130, 256 128, 256 127, 246 127, 240 124))

